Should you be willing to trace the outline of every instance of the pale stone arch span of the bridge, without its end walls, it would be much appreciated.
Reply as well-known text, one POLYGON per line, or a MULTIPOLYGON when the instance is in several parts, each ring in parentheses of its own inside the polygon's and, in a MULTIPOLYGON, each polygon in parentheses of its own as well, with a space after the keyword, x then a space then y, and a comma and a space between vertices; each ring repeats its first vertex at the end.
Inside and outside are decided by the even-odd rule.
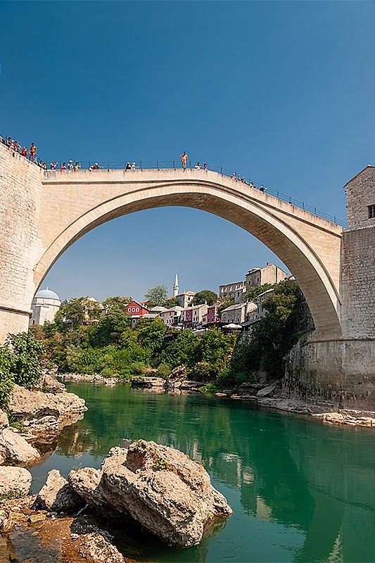
POLYGON ((49 171, 44 175, 35 289, 75 241, 122 215, 165 206, 205 210, 245 229, 300 284, 317 334, 341 336, 341 227, 257 189, 203 170, 49 171))

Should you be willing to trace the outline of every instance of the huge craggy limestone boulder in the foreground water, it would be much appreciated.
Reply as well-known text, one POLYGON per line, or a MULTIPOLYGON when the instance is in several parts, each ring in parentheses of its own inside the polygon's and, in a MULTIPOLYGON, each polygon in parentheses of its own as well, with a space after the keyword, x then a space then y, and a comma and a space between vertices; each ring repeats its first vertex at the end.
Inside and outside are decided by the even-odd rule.
POLYGON ((129 513, 179 548, 198 545, 214 517, 232 513, 201 465, 155 442, 113 448, 101 470, 79 469, 68 481, 89 505, 129 513))

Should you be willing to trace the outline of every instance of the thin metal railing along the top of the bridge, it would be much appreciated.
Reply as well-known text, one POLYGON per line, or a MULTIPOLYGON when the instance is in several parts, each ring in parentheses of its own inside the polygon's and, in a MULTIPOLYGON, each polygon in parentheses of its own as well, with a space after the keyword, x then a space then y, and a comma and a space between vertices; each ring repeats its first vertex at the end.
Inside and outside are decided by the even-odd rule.
MULTIPOLYGON (((6 139, 6 137, 3 137, 3 139, 6 139)), ((4 141, 3 141, 4 142, 4 141)), ((44 160, 45 163, 51 163, 51 160, 45 159, 44 160)), ((58 168, 56 168, 56 170, 61 171, 61 173, 64 173, 65 170, 61 170, 61 165, 62 163, 65 163, 65 165, 68 166, 68 162, 66 160, 58 160, 58 161, 54 161, 54 162, 58 162, 58 168)), ((196 168, 196 165, 194 165, 194 162, 198 162, 197 160, 193 160, 190 159, 188 161, 188 163, 186 164, 186 168, 189 170, 194 170, 196 168)), ((37 163, 35 163, 37 165, 37 163)), ((126 170, 127 166, 130 165, 130 167, 133 165, 135 165, 135 170, 168 170, 168 169, 172 169, 172 170, 181 170, 182 169, 182 165, 180 163, 180 160, 154 160, 154 161, 149 161, 149 160, 137 160, 137 161, 132 161, 132 163, 128 163, 127 160, 122 160, 122 161, 113 161, 113 160, 106 160, 106 161, 99 161, 99 160, 87 160, 84 162, 80 162, 80 169, 81 170, 92 170, 92 167, 94 165, 98 165, 100 167, 100 169, 103 170, 126 170)), ((51 165, 48 164, 48 167, 50 167, 51 165)), ((201 169, 203 170, 203 164, 201 163, 201 169)), ((300 209, 303 209, 305 211, 308 211, 309 213, 312 213, 313 215, 317 215, 318 217, 322 217, 322 219, 326 219, 327 221, 331 221, 341 227, 346 228, 347 227, 347 223, 343 220, 339 220, 336 216, 332 216, 332 215, 328 215, 327 213, 324 213, 324 211, 317 209, 317 207, 315 207, 314 205, 311 205, 309 203, 305 203, 305 201, 300 201, 298 199, 293 198, 291 195, 288 194, 284 194, 284 192, 280 191, 279 189, 273 189, 270 188, 269 186, 265 186, 264 184, 260 184, 260 182, 255 182, 255 180, 250 179, 250 177, 246 177, 243 175, 238 174, 238 172, 236 172, 236 170, 229 170, 228 168, 224 168, 222 166, 217 166, 215 164, 211 164, 211 163, 206 163, 207 166, 207 170, 212 170, 212 172, 218 172, 219 174, 221 174, 222 176, 226 176, 229 178, 234 179, 234 181, 236 182, 242 182, 243 184, 246 184, 248 186, 253 186, 255 189, 258 189, 260 191, 263 192, 267 192, 267 194, 270 194, 278 199, 280 199, 281 201, 285 201, 286 203, 290 203, 291 205, 295 205, 295 207, 298 207, 300 209)), ((134 170, 134 168, 133 168, 134 170)), ((95 170, 93 170, 95 172, 95 170)), ((129 171, 132 171, 132 168, 130 168, 129 171)))

